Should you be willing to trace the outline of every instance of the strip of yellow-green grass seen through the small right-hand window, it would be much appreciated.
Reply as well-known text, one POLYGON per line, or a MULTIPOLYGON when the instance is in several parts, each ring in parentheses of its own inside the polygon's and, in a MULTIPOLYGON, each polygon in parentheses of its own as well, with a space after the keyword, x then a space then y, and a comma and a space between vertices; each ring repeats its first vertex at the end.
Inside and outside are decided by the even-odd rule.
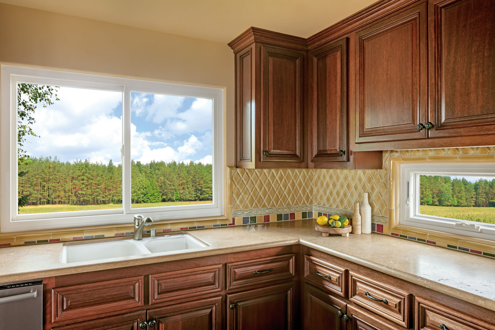
POLYGON ((495 224, 495 207, 420 206, 421 214, 495 224))

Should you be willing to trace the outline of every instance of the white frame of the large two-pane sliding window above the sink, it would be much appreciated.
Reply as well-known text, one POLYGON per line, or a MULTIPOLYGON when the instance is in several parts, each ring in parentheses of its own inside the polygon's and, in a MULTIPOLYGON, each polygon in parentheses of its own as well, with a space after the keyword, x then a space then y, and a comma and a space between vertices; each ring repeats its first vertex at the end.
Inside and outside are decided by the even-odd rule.
POLYGON ((0 86, 1 232, 132 223, 134 214, 153 220, 222 216, 223 90, 137 79, 107 77, 28 67, 1 66, 0 86), (29 83, 122 92, 122 208, 17 214, 17 84, 29 83), (208 98, 213 104, 212 203, 131 209, 131 93, 208 98))

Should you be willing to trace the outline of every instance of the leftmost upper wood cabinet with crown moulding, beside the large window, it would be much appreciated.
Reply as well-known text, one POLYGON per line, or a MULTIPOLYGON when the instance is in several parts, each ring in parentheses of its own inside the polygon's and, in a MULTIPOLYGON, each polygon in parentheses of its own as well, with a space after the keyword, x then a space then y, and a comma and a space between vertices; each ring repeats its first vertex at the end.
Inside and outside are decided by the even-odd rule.
POLYGON ((304 38, 250 28, 236 57, 236 166, 305 168, 304 38))

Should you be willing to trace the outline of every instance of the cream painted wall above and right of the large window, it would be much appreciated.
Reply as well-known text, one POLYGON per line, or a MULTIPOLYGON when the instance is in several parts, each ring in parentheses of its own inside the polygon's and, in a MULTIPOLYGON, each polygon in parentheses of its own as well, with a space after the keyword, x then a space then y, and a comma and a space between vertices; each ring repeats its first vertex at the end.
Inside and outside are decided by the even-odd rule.
POLYGON ((234 165, 234 54, 225 44, 0 3, 0 63, 224 88, 234 165))

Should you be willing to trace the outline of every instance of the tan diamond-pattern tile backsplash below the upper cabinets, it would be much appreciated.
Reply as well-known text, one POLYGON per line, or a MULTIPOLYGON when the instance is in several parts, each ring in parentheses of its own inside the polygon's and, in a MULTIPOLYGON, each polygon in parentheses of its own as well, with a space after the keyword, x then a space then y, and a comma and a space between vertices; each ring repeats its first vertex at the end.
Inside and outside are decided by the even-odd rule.
POLYGON ((493 159, 494 155, 494 146, 385 150, 381 170, 236 169, 233 210, 314 204, 350 211, 368 192, 373 215, 388 217, 390 157, 447 160, 493 159))

